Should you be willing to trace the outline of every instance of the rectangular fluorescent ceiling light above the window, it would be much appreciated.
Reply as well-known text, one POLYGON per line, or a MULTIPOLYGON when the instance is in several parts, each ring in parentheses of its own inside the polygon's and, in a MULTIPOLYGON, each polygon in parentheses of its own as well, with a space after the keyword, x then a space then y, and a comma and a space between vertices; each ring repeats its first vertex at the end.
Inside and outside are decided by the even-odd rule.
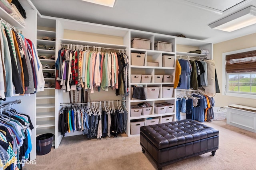
POLYGON ((211 23, 209 27, 214 29, 220 29, 222 31, 235 31, 240 28, 247 27, 256 23, 256 7, 249 6, 240 10, 230 16, 222 18, 214 23, 211 23))

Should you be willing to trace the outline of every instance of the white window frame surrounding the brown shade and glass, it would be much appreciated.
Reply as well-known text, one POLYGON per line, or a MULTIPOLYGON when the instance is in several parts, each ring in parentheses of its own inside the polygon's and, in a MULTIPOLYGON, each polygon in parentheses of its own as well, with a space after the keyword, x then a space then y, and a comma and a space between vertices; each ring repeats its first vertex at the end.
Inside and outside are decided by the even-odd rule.
MULTIPOLYGON (((250 99, 256 99, 256 93, 252 92, 236 92, 236 91, 228 91, 228 86, 229 86, 229 77, 228 75, 231 73, 226 72, 226 55, 231 55, 231 54, 236 54, 236 53, 244 53, 247 51, 254 51, 256 50, 256 47, 250 47, 246 49, 240 49, 236 51, 230 51, 226 53, 222 53, 222 95, 224 96, 233 96, 233 97, 242 97, 242 98, 250 98, 250 99)), ((245 72, 241 73, 238 72, 237 74, 253 74, 245 72)))

